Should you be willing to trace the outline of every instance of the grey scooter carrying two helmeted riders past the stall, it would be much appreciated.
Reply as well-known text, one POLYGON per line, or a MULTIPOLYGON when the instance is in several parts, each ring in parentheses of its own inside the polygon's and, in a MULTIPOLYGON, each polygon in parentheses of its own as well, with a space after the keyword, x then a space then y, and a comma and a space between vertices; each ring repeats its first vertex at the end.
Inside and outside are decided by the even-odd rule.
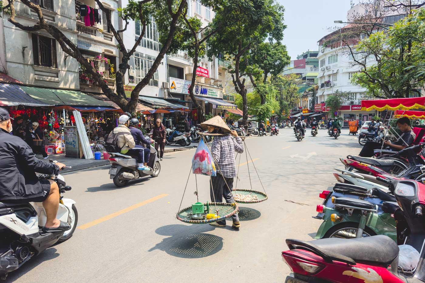
POLYGON ((147 166, 150 167, 150 171, 137 170, 137 159, 132 156, 122 153, 108 152, 111 154, 109 162, 112 165, 111 168, 109 168, 108 174, 110 175, 110 179, 113 179, 113 184, 116 187, 124 187, 130 180, 146 176, 157 177, 159 175, 159 172, 161 171, 161 163, 159 162, 157 151, 152 144, 150 144, 149 147, 150 157, 147 162, 147 166))

